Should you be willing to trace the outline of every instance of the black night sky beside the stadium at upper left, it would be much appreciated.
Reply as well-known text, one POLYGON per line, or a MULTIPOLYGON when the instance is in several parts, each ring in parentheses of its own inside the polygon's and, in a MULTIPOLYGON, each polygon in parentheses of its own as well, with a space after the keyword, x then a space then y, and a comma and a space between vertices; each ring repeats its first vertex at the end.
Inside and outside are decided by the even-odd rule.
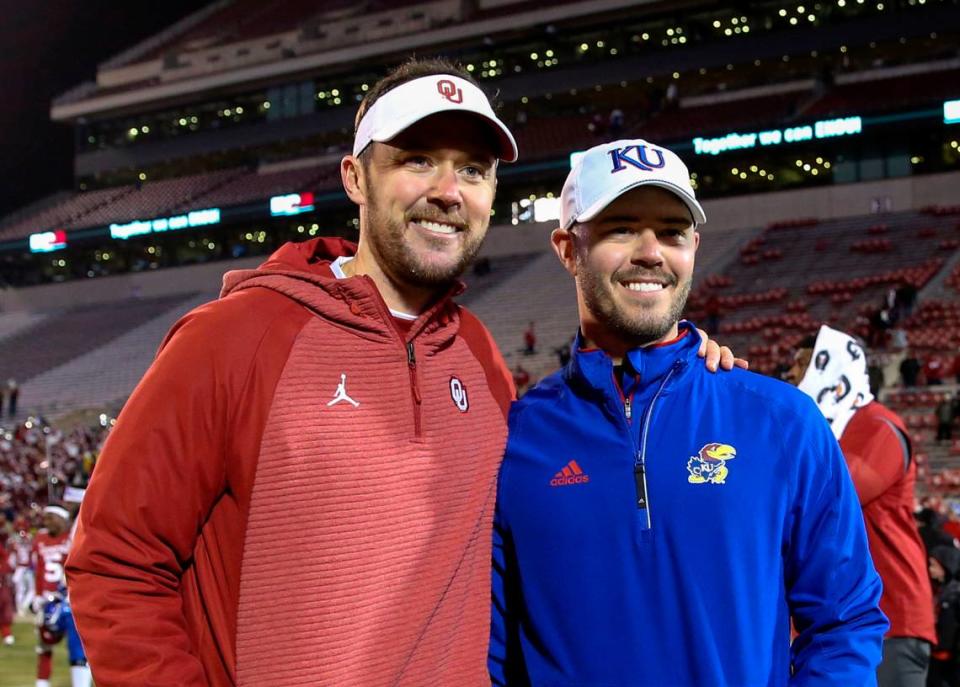
POLYGON ((72 186, 72 130, 50 121, 50 101, 205 4, 0 0, 0 217, 72 186))

